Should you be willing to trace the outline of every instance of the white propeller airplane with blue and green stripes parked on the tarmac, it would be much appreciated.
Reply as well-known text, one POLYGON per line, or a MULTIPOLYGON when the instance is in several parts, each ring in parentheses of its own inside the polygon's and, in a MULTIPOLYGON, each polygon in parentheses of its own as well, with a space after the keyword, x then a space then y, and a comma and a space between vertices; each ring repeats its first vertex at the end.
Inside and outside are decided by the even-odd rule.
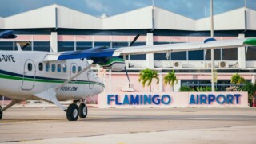
MULTIPOLYGON (((12 30, 0 33, 0 38, 16 37, 12 30)), ((134 38, 130 46, 138 37, 139 35, 134 38)), ((256 38, 229 41, 216 41, 210 38, 194 43, 122 48, 95 47, 60 53, 23 51, 27 45, 21 47, 17 44, 17 51, 0 51, 0 95, 11 99, 6 107, 0 106, 0 119, 3 111, 14 104, 34 99, 54 103, 62 111, 66 111, 66 119, 69 121, 76 121, 78 117, 86 118, 86 97, 98 95, 105 88, 102 80, 90 69, 94 64, 113 71, 125 70, 129 80, 125 66, 128 55, 248 47, 256 45, 256 38), (92 63, 90 64, 88 60, 92 63), (67 108, 60 103, 66 100, 72 101, 67 108)))

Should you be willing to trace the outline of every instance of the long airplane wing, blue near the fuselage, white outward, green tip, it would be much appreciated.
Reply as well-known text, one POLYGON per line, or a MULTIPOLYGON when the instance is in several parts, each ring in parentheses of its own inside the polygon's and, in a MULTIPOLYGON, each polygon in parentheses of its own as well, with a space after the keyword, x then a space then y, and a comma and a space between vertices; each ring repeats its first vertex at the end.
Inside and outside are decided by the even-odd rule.
POLYGON ((168 53, 168 52, 182 52, 194 51, 203 49, 227 49, 238 48, 256 45, 256 38, 235 39, 228 41, 203 41, 193 43, 178 43, 166 45, 143 45, 122 48, 108 48, 103 47, 92 48, 82 51, 72 51, 63 53, 50 53, 47 54, 44 61, 51 60, 69 60, 81 58, 100 58, 100 57, 113 57, 113 56, 127 56, 135 54, 146 53, 168 53))

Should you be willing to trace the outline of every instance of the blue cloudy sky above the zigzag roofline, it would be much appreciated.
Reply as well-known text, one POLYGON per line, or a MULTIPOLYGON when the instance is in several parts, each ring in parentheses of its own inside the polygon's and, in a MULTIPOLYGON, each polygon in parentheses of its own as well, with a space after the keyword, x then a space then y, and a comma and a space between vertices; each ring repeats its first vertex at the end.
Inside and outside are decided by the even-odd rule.
MULTIPOLYGON (((0 16, 8 17, 43 6, 58 4, 74 10, 100 17, 122 14, 145 6, 158 6, 188 18, 199 19, 210 16, 210 0, 0 0, 0 16)), ((214 14, 238 9, 245 0, 214 0, 214 14)), ((256 10, 256 0, 246 0, 246 6, 256 10)))

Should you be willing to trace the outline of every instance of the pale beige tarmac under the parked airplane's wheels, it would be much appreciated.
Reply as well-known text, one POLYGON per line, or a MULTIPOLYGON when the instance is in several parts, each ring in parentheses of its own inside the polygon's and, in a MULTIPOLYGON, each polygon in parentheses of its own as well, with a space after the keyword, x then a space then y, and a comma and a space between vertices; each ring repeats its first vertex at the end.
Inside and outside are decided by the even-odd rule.
POLYGON ((58 107, 11 107, 0 143, 256 143, 256 108, 89 108, 66 120, 58 107))

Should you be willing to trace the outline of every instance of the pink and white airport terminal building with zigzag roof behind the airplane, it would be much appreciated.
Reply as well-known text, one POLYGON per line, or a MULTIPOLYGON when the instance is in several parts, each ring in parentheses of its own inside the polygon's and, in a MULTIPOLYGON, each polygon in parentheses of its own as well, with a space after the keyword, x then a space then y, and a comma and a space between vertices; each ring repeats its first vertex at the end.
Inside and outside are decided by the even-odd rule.
MULTIPOLYGON (((13 29, 18 37, 0 40, 1 50, 15 50, 16 42, 31 41, 28 51, 72 51, 95 46, 122 47, 130 45, 159 45, 204 41, 210 37, 210 18, 194 20, 156 6, 147 6, 123 14, 101 18, 70 8, 51 5, 10 17, 0 17, 0 31, 13 29)), ((240 8, 214 15, 214 38, 229 40, 256 37, 256 11, 240 8)), ((230 86, 230 77, 238 72, 246 80, 256 79, 256 48, 215 49, 215 68, 218 72, 218 91, 230 86)), ((138 83, 138 72, 154 68, 159 72, 159 84, 154 91, 170 91, 162 84, 166 72, 174 69, 181 86, 210 86, 210 50, 187 51, 129 56, 131 83, 135 91, 149 91, 138 83), (167 56, 167 57, 166 57, 167 56)), ((122 91, 128 81, 124 72, 99 72, 106 82, 106 91, 122 91), (120 80, 122 79, 122 80, 120 80)))

